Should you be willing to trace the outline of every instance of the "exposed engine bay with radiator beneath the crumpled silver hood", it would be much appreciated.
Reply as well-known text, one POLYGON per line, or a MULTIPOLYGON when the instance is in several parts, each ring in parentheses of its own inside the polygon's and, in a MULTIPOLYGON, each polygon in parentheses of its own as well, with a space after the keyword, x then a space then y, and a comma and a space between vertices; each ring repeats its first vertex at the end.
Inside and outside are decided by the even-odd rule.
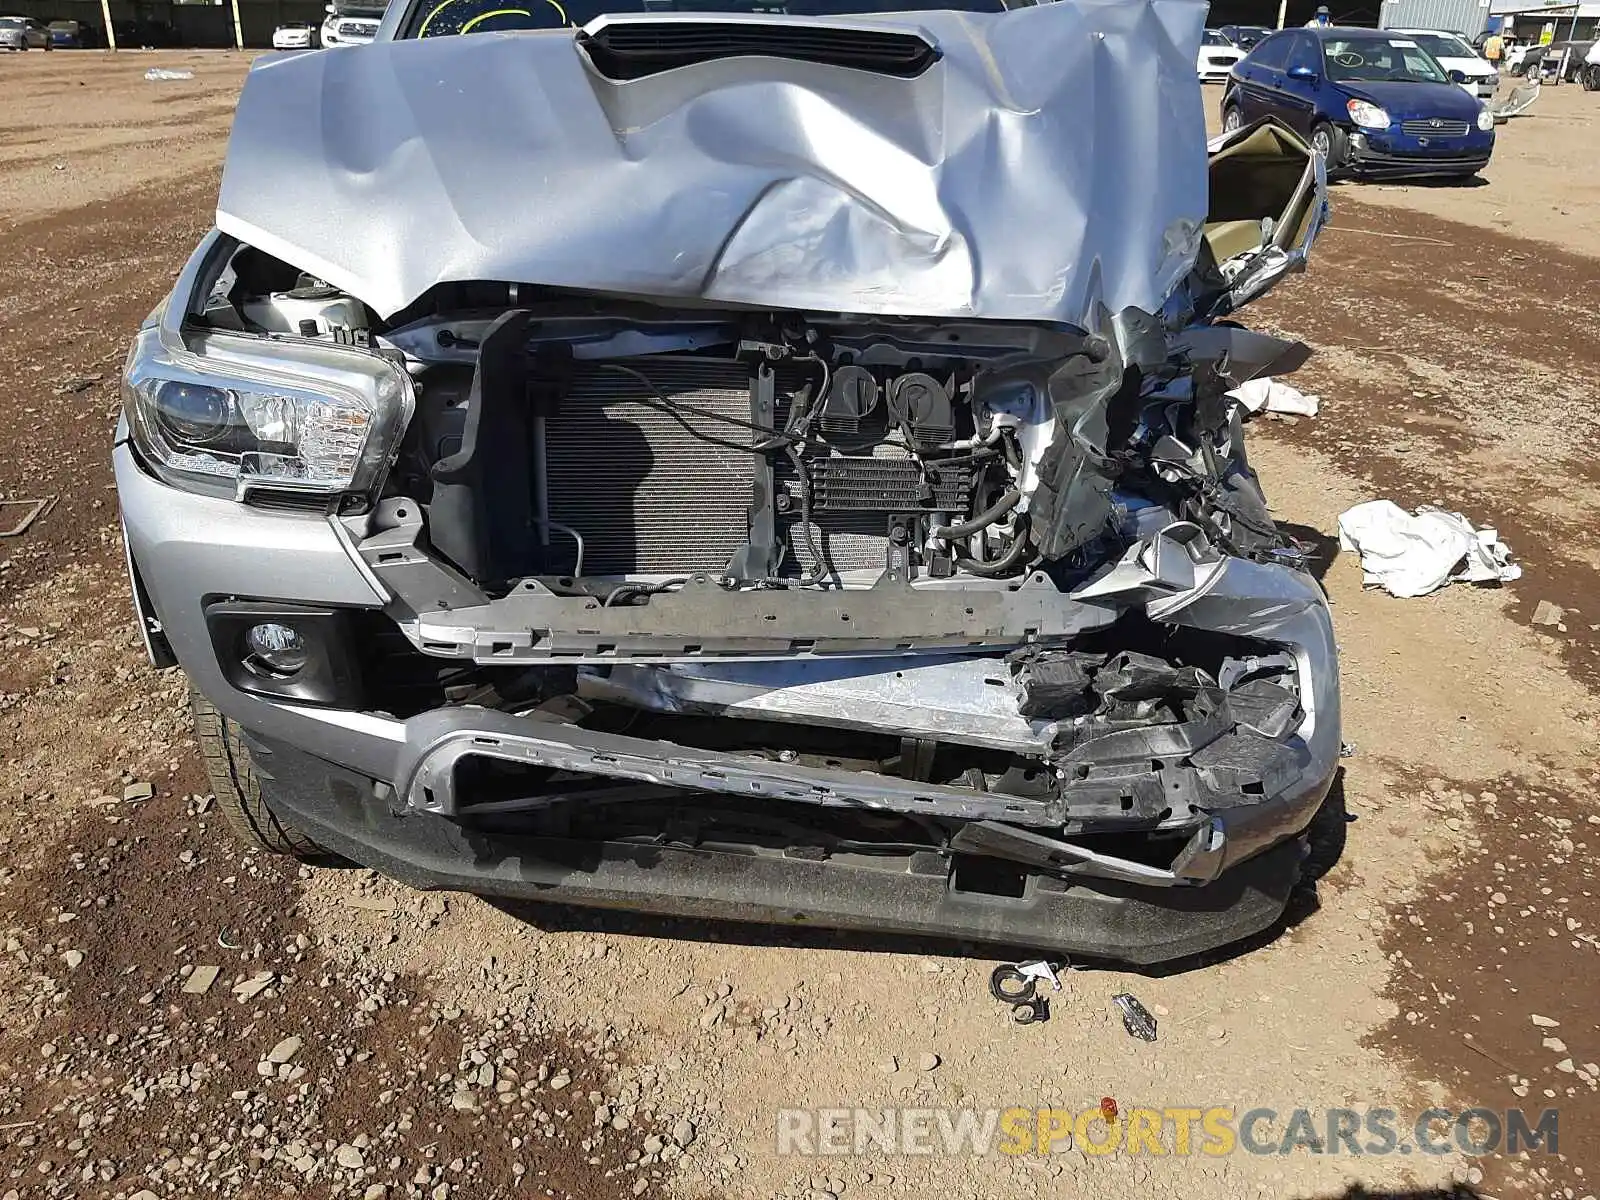
POLYGON ((248 246, 205 310, 402 362, 414 413, 386 494, 422 507, 430 549, 490 597, 538 581, 606 606, 690 578, 1064 587, 1171 522, 1290 552, 1227 354, 1174 352, 1139 317, 1083 334, 470 283, 381 322, 248 246))

